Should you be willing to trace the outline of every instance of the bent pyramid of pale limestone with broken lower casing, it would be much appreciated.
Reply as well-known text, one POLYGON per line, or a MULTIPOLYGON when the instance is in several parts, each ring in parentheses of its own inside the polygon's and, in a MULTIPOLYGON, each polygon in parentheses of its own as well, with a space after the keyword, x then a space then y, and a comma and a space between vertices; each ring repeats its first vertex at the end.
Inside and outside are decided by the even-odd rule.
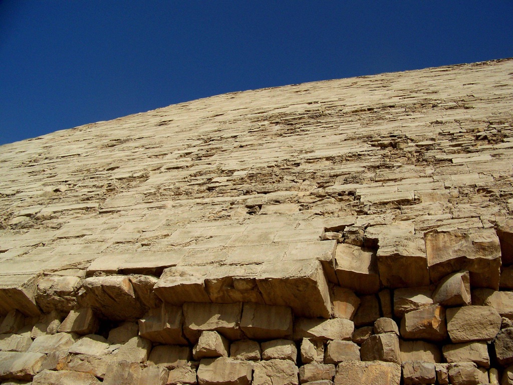
POLYGON ((511 59, 219 95, 0 162, 0 382, 513 383, 511 59))

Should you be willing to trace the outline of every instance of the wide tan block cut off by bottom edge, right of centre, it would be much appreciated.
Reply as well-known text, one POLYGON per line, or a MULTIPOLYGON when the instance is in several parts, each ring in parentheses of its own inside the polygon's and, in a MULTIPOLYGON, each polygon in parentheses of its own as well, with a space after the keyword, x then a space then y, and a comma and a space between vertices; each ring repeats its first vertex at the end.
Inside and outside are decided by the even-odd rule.
POLYGON ((368 383, 373 385, 399 385, 401 365, 392 362, 345 361, 339 363, 335 385, 368 383))

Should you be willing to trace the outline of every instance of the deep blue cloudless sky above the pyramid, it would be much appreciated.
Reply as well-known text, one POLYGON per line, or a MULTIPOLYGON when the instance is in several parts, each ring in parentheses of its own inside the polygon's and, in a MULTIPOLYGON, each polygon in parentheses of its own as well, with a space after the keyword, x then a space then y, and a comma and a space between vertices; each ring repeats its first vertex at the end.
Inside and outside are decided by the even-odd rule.
POLYGON ((230 91, 511 56, 512 0, 0 0, 0 144, 230 91))

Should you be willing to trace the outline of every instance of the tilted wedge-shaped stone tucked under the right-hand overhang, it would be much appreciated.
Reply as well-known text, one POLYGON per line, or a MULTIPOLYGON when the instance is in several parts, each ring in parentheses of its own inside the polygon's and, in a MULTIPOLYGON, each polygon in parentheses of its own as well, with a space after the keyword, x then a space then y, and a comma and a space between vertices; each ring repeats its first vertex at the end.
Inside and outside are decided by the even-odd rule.
POLYGON ((449 274, 433 292, 433 303, 442 306, 463 306, 470 305, 471 302, 468 271, 449 274))

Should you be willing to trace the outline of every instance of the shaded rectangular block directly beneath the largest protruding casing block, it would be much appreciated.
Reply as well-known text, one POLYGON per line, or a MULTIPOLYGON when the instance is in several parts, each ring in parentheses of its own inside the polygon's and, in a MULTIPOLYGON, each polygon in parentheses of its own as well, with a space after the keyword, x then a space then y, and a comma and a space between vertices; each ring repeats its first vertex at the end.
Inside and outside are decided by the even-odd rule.
POLYGON ((244 303, 241 329, 248 338, 290 338, 292 310, 288 306, 244 303))

